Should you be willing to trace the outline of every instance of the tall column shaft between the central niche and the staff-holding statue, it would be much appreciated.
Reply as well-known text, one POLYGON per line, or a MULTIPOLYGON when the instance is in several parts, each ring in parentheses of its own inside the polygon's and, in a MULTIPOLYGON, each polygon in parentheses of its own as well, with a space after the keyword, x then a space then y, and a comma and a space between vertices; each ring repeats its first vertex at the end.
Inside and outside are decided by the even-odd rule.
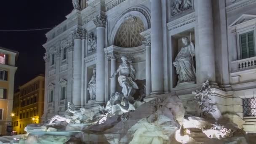
POLYGON ((163 93, 163 24, 160 0, 151 0, 152 94, 163 93))

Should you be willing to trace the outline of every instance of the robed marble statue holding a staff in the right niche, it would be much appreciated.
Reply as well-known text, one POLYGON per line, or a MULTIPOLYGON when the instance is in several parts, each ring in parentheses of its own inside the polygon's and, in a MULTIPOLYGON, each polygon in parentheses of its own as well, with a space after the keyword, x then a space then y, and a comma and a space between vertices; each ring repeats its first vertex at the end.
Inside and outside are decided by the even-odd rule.
POLYGON ((179 51, 173 62, 178 75, 178 85, 185 82, 195 82, 196 72, 194 67, 195 46, 187 37, 182 37, 184 46, 179 51))

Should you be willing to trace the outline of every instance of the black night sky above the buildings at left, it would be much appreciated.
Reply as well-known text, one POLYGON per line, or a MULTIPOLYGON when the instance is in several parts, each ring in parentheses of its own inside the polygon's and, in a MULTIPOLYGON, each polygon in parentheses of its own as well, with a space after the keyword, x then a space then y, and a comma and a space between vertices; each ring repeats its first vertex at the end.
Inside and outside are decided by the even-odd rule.
MULTIPOLYGON (((0 30, 55 27, 72 8, 72 0, 1 0, 0 30)), ((45 73, 42 45, 49 30, 0 32, 0 46, 19 51, 15 88, 45 73)))

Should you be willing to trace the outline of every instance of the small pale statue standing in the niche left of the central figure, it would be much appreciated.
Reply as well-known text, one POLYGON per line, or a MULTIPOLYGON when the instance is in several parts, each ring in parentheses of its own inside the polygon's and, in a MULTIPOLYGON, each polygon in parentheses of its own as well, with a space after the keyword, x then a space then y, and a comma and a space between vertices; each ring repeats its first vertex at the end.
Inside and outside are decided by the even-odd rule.
POLYGON ((88 88, 90 94, 90 100, 96 99, 96 69, 93 69, 93 76, 91 77, 91 80, 88 83, 88 88))

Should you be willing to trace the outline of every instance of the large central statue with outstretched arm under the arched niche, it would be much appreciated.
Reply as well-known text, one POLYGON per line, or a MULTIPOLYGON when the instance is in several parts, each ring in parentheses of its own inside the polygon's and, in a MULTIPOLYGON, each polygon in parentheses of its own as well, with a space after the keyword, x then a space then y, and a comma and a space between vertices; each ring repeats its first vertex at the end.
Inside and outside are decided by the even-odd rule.
POLYGON ((123 88, 122 93, 125 97, 133 96, 136 89, 139 89, 138 85, 135 83, 136 69, 132 64, 128 63, 128 59, 125 56, 121 57, 123 61, 118 67, 117 71, 110 77, 114 78, 115 75, 119 73, 118 83, 123 88))

